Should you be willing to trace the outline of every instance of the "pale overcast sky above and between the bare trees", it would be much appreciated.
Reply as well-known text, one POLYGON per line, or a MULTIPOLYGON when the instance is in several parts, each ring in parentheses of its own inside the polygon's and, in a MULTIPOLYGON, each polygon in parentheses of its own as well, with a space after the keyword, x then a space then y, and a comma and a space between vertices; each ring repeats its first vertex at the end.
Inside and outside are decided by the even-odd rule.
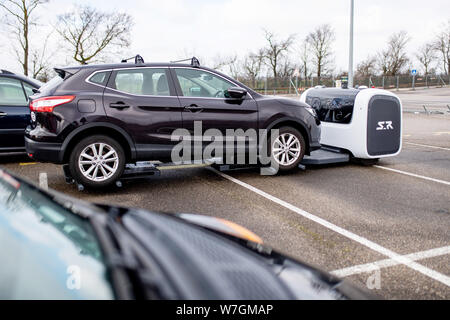
MULTIPOLYGON (((263 28, 280 38, 295 34, 300 43, 314 27, 328 23, 336 32, 336 70, 348 66, 350 0, 50 0, 38 12, 41 24, 54 24, 75 2, 133 16, 132 45, 123 53, 127 57, 139 53, 146 61, 169 61, 186 54, 244 56, 265 45, 263 28)), ((409 33, 408 51, 414 58, 414 50, 432 40, 449 19, 450 0, 355 0, 355 66, 399 30, 409 33)), ((20 71, 4 29, 0 68, 20 71)), ((47 31, 41 26, 35 37, 47 31)), ((70 62, 65 54, 55 57, 57 65, 70 62)))

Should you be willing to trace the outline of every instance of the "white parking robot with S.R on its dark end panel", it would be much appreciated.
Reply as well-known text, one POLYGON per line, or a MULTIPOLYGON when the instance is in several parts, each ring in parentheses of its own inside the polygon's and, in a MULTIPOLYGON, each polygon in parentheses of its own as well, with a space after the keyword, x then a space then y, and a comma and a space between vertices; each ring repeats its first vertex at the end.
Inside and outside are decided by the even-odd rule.
POLYGON ((359 159, 375 163, 402 148, 402 103, 379 89, 312 88, 300 101, 312 106, 322 122, 322 148, 303 164, 330 164, 359 159))

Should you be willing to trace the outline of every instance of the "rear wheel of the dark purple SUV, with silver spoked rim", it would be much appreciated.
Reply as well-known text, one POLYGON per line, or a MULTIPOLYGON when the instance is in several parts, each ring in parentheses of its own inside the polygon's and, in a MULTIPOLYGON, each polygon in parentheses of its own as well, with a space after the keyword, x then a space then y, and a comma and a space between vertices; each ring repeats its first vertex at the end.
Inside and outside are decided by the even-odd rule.
POLYGON ((69 168, 77 183, 104 188, 122 176, 125 152, 116 140, 94 135, 77 143, 70 155, 69 168))

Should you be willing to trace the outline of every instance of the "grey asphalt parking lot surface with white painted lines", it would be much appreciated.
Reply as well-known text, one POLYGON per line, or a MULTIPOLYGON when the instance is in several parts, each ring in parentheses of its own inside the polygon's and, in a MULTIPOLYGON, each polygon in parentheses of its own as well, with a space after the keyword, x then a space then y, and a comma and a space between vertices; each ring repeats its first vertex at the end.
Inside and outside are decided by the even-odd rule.
POLYGON ((399 96, 412 111, 404 113, 403 151, 373 167, 310 167, 278 176, 165 170, 107 192, 78 192, 60 166, 24 156, 3 156, 0 165, 37 183, 46 177, 50 188, 88 201, 232 220, 383 298, 450 299, 450 90, 399 96), (414 113, 431 103, 442 113, 414 113))

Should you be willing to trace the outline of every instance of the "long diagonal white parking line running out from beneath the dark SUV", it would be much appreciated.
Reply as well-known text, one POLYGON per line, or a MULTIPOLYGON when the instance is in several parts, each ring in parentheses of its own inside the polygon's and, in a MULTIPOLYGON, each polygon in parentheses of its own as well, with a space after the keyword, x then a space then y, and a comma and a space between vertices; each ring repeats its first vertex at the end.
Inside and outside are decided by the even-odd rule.
POLYGON ((315 216, 315 215, 313 215, 313 214, 311 214, 309 212, 306 212, 305 210, 297 208, 296 206, 294 206, 294 205, 292 205, 292 204, 290 204, 290 203, 288 203, 286 201, 278 199, 277 197, 274 197, 274 196, 268 194, 267 192, 264 192, 264 191, 262 191, 262 190, 260 190, 258 188, 255 188, 255 187, 253 187, 253 186, 251 186, 251 185, 249 185, 249 184, 247 184, 247 183, 245 183, 245 182, 243 182, 241 180, 233 178, 233 177, 231 177, 231 176, 229 176, 229 175, 227 175, 227 174, 225 174, 223 172, 219 172, 219 171, 217 171, 216 169, 213 169, 213 168, 210 168, 210 170, 212 170, 213 172, 215 172, 219 176, 221 176, 221 177, 223 177, 223 178, 225 178, 225 179, 227 179, 227 180, 229 180, 231 182, 234 182, 234 183, 236 183, 236 184, 238 184, 238 185, 240 185, 240 186, 242 186, 242 187, 244 187, 244 188, 246 188, 246 189, 248 189, 248 190, 250 190, 250 191, 252 191, 252 192, 254 192, 254 193, 256 193, 256 194, 258 194, 258 195, 260 195, 260 196, 262 196, 262 197, 264 197, 264 198, 266 198, 268 200, 270 200, 270 201, 272 201, 272 202, 275 202, 276 204, 278 204, 278 205, 280 205, 282 207, 285 207, 286 209, 291 210, 291 211, 297 213, 298 215, 300 215, 300 216, 302 216, 302 217, 304 217, 306 219, 314 221, 314 222, 324 226, 325 228, 328 228, 328 229, 330 229, 330 230, 332 230, 332 231, 334 231, 336 233, 339 233, 340 235, 342 235, 342 236, 344 236, 346 238, 349 238, 349 239, 351 239, 351 240, 353 240, 355 242, 358 242, 359 244, 361 244, 361 245, 363 245, 363 246, 365 246, 365 247, 367 247, 367 248, 369 248, 369 249, 371 249, 371 250, 373 250, 375 252, 378 252, 378 253, 380 253, 382 255, 385 255, 385 256, 389 257, 390 259, 398 262, 399 264, 403 264, 403 265, 405 265, 405 266, 407 266, 407 267, 409 267, 409 268, 411 268, 411 269, 413 269, 413 270, 415 270, 417 272, 420 272, 420 273, 422 273, 422 274, 424 274, 424 275, 426 275, 426 276, 428 276, 428 277, 430 277, 430 278, 432 278, 432 279, 434 279, 436 281, 439 281, 440 283, 445 284, 446 286, 450 287, 450 277, 448 277, 448 276, 446 276, 446 275, 444 275, 444 274, 442 274, 440 272, 437 272, 435 270, 427 268, 427 267, 425 267, 425 266, 423 266, 423 265, 421 265, 421 264, 419 264, 417 262, 414 262, 413 260, 409 259, 408 257, 401 256, 398 253, 396 253, 394 251, 391 251, 391 250, 389 250, 389 249, 387 249, 387 248, 385 248, 385 247, 383 247, 383 246, 381 246, 381 245, 379 245, 379 244, 377 244, 377 243, 375 243, 375 242, 373 242, 371 240, 368 240, 368 239, 366 239, 364 237, 361 237, 361 236, 359 236, 359 235, 357 235, 357 234, 355 234, 355 233, 353 233, 351 231, 348 231, 346 229, 343 229, 343 228, 341 228, 341 227, 339 227, 339 226, 337 226, 337 225, 335 225, 335 224, 333 224, 331 222, 328 222, 327 220, 324 220, 322 218, 319 218, 318 216, 315 216))

